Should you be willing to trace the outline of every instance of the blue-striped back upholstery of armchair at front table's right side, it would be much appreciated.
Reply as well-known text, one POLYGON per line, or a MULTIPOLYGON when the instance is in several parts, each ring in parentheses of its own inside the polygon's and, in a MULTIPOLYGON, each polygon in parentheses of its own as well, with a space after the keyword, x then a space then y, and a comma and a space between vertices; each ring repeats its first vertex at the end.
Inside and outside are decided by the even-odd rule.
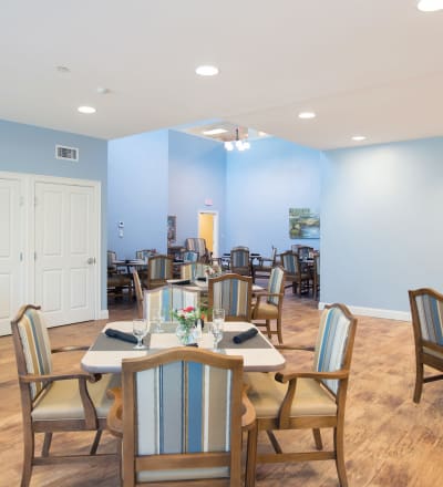
MULTIPOLYGON (((326 309, 321 314, 313 369, 317 372, 338 371, 343 365, 351 320, 339 308, 326 309)), ((337 394, 338 380, 322 380, 337 394)))

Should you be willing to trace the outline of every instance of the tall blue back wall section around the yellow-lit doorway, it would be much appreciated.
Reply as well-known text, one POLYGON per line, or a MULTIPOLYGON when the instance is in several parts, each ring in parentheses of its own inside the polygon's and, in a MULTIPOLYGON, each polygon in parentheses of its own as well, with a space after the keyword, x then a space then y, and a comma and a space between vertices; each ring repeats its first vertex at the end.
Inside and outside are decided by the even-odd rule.
POLYGON ((218 211, 219 246, 226 227, 226 153, 223 144, 169 131, 169 215, 177 217, 177 245, 198 237, 198 211, 218 211), (205 206, 212 199, 212 206, 205 206))

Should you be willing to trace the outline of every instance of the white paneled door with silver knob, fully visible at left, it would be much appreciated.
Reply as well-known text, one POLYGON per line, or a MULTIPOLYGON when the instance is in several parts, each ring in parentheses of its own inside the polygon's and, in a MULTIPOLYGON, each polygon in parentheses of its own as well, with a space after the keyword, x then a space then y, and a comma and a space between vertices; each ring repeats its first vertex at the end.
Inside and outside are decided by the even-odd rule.
POLYGON ((35 183, 35 302, 49 325, 95 318, 94 188, 35 183))

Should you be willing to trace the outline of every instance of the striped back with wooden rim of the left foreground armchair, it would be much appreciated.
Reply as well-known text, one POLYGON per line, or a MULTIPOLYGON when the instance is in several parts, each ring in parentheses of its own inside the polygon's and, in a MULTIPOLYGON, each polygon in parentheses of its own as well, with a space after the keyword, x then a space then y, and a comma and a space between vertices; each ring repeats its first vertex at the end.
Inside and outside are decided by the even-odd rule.
MULTIPOLYGON (((14 345, 19 374, 51 374, 51 345, 39 307, 27 307, 21 319, 12 322, 12 334, 16 334, 14 345)), ((35 400, 44 387, 43 382, 30 383, 31 400, 35 400)))

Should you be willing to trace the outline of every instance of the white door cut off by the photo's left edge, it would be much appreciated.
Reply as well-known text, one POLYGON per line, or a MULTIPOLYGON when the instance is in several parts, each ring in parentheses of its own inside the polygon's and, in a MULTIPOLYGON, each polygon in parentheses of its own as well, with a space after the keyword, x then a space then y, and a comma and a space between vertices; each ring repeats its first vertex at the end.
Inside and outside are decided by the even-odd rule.
POLYGON ((22 196, 19 178, 0 178, 0 335, 11 333, 10 322, 22 300, 22 196))

